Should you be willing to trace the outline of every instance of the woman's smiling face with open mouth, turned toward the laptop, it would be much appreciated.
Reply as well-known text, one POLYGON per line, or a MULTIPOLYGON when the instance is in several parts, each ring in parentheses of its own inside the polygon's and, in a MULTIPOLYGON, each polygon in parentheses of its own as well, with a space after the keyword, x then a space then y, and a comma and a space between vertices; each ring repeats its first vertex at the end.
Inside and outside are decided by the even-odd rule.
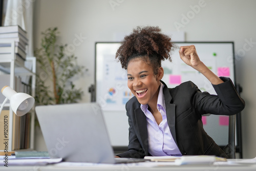
POLYGON ((163 77, 163 69, 159 68, 158 74, 154 74, 149 61, 141 58, 132 59, 127 66, 127 86, 136 96, 140 104, 157 103, 160 79, 163 77))

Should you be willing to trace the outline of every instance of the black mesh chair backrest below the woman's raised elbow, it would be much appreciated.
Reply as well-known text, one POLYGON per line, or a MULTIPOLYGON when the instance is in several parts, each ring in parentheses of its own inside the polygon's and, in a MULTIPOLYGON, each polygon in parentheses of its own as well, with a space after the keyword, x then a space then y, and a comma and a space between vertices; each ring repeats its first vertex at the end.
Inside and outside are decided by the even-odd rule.
POLYGON ((235 159, 236 115, 208 115, 203 116, 202 120, 206 133, 223 149, 229 159, 235 159))

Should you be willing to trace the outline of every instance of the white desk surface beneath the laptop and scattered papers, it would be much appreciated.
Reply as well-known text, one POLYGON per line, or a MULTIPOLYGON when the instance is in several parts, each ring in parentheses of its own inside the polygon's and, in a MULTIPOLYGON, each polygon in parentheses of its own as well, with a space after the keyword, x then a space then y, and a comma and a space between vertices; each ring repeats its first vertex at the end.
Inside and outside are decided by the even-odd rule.
POLYGON ((92 164, 92 163, 70 163, 61 162, 46 166, 12 166, 8 168, 0 166, 0 170, 256 170, 256 164, 235 163, 239 160, 228 160, 227 162, 216 162, 212 165, 173 165, 171 162, 142 162, 130 164, 92 164))

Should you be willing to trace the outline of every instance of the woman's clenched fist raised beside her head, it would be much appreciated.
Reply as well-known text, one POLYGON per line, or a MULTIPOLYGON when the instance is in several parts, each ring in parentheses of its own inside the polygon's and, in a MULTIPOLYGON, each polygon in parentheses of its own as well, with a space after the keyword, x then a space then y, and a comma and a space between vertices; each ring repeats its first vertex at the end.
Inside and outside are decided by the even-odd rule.
POLYGON ((196 47, 194 45, 191 46, 181 46, 180 50, 180 58, 189 66, 197 69, 199 65, 202 64, 201 60, 196 51, 196 47))

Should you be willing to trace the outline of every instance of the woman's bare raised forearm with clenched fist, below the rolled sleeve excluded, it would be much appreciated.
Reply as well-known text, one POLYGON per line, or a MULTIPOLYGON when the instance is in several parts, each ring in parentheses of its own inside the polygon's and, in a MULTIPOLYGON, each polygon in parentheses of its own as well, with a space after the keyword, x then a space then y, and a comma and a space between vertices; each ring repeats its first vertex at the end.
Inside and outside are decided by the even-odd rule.
POLYGON ((212 84, 217 85, 223 82, 200 60, 194 45, 180 47, 179 53, 180 58, 187 65, 202 73, 212 84))

